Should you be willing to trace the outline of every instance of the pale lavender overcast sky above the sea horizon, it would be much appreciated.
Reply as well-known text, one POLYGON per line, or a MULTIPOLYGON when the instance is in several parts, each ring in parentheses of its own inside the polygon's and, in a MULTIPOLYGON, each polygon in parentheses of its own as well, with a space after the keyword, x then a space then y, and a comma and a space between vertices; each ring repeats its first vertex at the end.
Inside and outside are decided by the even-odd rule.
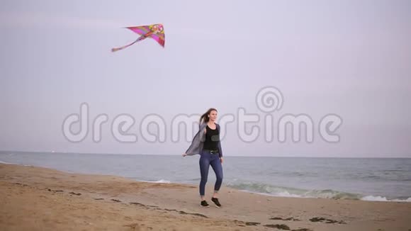
POLYGON ((0 150, 181 154, 189 142, 184 132, 171 140, 173 118, 213 107, 234 117, 222 127, 225 156, 411 157, 411 1, 7 0, 0 30, 0 150), (138 36, 123 27, 153 23, 164 25, 164 48, 147 39, 111 52, 138 36), (257 106, 266 86, 283 96, 277 111, 257 106), (70 142, 63 122, 81 103, 89 133, 70 142), (244 128, 259 129, 257 140, 239 134, 239 110, 259 116, 244 128), (123 114, 135 120, 126 132, 135 142, 111 133, 123 114), (142 134, 153 114, 164 142, 142 134), (300 114, 313 121, 313 142, 291 133, 280 142, 281 117, 300 114), (342 119, 339 142, 319 134, 328 114, 342 119))

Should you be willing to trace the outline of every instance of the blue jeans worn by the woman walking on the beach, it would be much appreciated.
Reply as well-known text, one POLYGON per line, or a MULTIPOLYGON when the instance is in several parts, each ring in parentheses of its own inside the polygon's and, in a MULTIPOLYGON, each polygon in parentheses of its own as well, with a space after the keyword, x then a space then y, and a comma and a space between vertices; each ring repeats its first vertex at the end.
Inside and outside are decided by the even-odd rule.
POLYGON ((211 167, 213 167, 213 170, 215 172, 215 192, 220 190, 221 183, 223 182, 223 166, 221 165, 220 157, 218 156, 218 154, 210 154, 210 152, 203 150, 200 157, 200 196, 205 196, 205 184, 207 183, 208 169, 210 165, 211 167))

